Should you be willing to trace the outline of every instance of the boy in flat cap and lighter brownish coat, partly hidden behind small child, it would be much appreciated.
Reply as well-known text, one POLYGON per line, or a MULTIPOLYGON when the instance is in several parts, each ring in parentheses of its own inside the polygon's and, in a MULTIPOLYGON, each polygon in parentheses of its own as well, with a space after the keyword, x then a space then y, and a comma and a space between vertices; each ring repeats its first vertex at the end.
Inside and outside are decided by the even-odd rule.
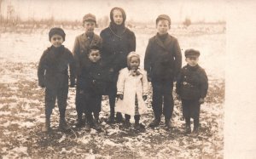
POLYGON ((102 38, 94 33, 94 28, 96 27, 96 16, 94 14, 85 14, 83 17, 84 33, 76 37, 73 46, 73 55, 76 63, 76 78, 77 78, 77 88, 76 88, 76 111, 78 114, 78 122, 76 126, 78 128, 84 126, 84 121, 82 116, 84 112, 84 106, 82 104, 83 95, 80 94, 80 75, 81 66, 88 63, 88 54, 91 47, 97 47, 101 50, 102 48, 102 38))

